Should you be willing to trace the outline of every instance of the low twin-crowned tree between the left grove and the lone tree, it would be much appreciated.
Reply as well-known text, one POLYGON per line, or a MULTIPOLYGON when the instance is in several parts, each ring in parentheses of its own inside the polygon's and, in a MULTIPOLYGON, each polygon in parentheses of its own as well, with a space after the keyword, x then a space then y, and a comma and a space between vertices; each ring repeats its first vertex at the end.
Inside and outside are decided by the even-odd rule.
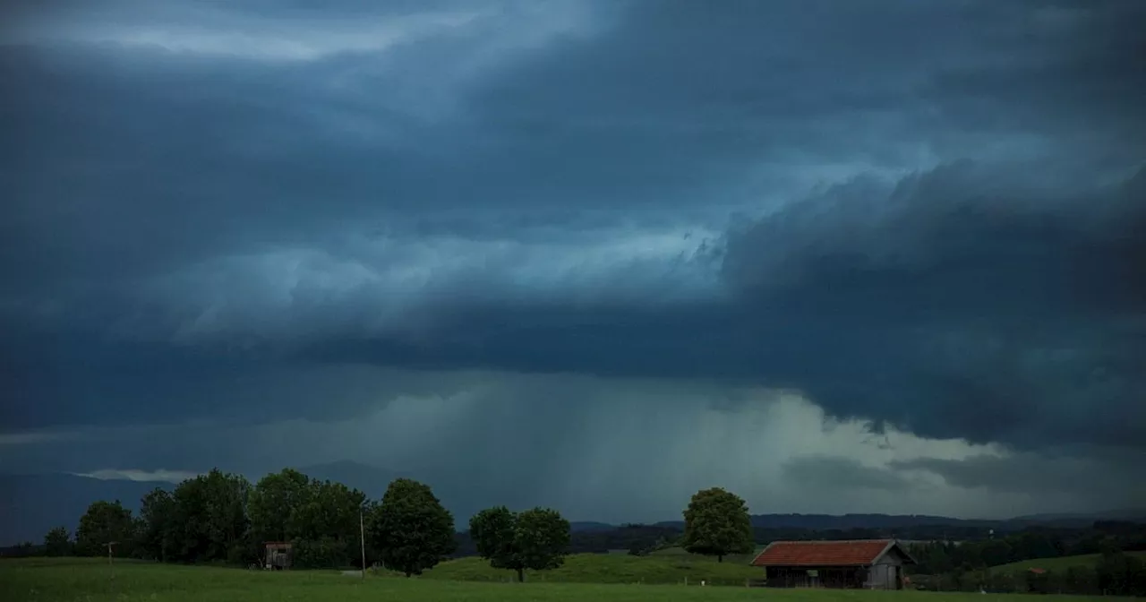
POLYGON ((565 562, 570 522, 549 508, 515 514, 499 506, 470 518, 470 537, 490 566, 517 571, 517 580, 525 581, 526 569, 557 569, 565 562))

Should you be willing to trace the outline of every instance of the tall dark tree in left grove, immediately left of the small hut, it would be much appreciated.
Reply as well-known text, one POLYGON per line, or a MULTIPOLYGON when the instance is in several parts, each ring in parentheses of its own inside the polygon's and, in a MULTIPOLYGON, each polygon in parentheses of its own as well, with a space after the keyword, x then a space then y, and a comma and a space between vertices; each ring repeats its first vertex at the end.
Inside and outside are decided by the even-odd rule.
POLYGON ((258 552, 248 538, 250 483, 241 475, 213 469, 175 487, 172 499, 179 525, 174 549, 188 562, 244 564, 258 552))

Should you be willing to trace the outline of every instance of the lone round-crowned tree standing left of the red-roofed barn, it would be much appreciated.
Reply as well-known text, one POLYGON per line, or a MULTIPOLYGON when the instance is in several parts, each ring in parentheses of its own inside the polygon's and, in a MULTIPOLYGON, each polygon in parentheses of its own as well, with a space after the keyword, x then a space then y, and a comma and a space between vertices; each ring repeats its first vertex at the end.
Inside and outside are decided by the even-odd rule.
POLYGON ((700 490, 684 509, 684 549, 691 554, 716 556, 753 549, 748 507, 735 493, 720 487, 700 490))

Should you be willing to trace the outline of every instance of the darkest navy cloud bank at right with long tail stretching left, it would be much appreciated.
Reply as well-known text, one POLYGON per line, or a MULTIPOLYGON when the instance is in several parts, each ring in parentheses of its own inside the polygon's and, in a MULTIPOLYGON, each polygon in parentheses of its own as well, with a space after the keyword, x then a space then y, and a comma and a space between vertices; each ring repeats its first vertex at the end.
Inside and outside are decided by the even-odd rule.
POLYGON ((1006 173, 959 164, 856 182, 737 228, 729 303, 501 307, 445 322, 434 345, 312 352, 751 381, 925 436, 1140 445, 1143 177, 1054 191, 1006 173))

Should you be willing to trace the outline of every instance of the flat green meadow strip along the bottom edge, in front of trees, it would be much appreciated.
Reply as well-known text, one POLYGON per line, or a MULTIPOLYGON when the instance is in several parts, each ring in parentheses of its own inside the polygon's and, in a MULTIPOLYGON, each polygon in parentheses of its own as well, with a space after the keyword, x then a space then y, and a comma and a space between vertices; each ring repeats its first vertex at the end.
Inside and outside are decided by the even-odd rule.
MULTIPOLYGON (((1021 600, 1005 594, 953 594, 924 592, 840 592, 827 589, 748 589, 680 585, 602 585, 534 581, 501 584, 369 577, 364 581, 337 572, 261 572, 206 566, 172 566, 120 563, 109 566, 97 560, 62 558, 0 561, 0 597, 24 601, 581 601, 651 602, 740 601, 767 597, 774 602, 989 602, 1021 600)), ((1053 596, 1054 602, 1094 600, 1053 596)), ((1112 600, 1112 599, 1105 599, 1112 600)))

